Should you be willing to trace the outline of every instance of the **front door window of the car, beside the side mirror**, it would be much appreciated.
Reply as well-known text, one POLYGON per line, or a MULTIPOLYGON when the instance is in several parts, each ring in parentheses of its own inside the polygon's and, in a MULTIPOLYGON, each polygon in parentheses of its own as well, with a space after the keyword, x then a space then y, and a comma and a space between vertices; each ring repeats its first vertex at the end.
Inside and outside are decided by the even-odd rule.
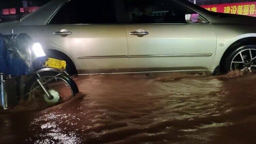
POLYGON ((204 23, 196 12, 172 0, 123 0, 123 4, 122 23, 204 23))

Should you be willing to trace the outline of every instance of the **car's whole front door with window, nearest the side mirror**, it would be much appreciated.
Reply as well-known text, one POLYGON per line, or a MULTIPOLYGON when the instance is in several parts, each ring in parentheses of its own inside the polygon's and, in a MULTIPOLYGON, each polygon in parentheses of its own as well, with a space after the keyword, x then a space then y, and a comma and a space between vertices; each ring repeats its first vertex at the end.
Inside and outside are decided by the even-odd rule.
POLYGON ((212 68, 216 36, 202 16, 172 0, 122 2, 131 72, 212 68))

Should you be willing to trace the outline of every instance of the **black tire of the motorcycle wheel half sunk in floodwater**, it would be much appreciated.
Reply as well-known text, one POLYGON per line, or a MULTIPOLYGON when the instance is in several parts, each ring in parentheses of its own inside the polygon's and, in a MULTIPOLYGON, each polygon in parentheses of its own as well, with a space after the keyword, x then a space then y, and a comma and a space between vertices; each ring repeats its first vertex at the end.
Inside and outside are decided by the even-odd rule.
MULTIPOLYGON (((41 77, 56 76, 58 74, 60 74, 60 73, 56 72, 56 71, 43 71, 43 72, 39 73, 39 75, 41 77)), ((65 74, 61 74, 58 77, 64 79, 68 83, 71 90, 73 91, 73 96, 79 92, 78 87, 73 79, 66 76, 65 74)), ((34 74, 27 82, 25 89, 24 89, 24 100, 28 99, 29 95, 27 95, 27 94, 30 92, 31 88, 33 87, 33 84, 37 81, 38 78, 39 78, 38 75, 34 74)))

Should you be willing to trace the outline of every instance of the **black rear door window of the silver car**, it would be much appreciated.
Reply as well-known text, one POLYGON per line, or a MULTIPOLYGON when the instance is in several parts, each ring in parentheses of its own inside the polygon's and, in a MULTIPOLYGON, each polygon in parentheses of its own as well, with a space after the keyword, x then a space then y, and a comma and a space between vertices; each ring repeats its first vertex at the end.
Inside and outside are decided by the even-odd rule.
POLYGON ((53 16, 49 24, 115 24, 115 0, 71 0, 53 16))

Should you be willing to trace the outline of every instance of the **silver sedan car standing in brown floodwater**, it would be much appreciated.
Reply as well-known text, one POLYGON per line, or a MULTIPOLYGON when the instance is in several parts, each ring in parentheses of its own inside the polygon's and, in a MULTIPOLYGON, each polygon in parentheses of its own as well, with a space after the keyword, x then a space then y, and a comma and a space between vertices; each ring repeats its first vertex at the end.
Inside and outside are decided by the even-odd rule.
POLYGON ((256 69, 255 25, 185 0, 53 0, 0 33, 29 34, 71 74, 212 73, 256 69))

